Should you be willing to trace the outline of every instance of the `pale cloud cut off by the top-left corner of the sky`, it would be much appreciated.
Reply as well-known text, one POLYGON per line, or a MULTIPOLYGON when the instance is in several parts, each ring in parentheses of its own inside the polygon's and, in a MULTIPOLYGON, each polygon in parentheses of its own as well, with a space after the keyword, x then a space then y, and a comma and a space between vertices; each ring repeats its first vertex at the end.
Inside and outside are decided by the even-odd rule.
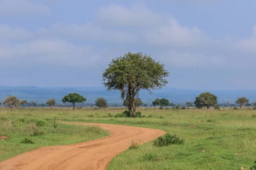
POLYGON ((17 14, 49 14, 50 9, 31 0, 1 0, 0 16, 17 14))

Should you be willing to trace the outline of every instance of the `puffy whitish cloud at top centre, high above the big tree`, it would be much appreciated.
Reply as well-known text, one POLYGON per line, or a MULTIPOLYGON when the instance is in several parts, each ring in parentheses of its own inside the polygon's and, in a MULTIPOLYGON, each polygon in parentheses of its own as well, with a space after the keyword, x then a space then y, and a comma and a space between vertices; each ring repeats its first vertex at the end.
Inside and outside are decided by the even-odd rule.
POLYGON ((97 13, 97 18, 109 26, 154 27, 164 22, 162 16, 140 3, 134 4, 131 8, 115 4, 102 7, 97 13))

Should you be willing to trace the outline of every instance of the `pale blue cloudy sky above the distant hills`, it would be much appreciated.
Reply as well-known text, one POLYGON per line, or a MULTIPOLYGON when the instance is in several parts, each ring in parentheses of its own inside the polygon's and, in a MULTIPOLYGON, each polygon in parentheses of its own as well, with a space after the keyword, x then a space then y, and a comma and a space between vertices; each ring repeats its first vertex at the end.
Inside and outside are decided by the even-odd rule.
POLYGON ((98 87, 143 52, 167 87, 256 90, 255 0, 0 0, 0 85, 98 87))

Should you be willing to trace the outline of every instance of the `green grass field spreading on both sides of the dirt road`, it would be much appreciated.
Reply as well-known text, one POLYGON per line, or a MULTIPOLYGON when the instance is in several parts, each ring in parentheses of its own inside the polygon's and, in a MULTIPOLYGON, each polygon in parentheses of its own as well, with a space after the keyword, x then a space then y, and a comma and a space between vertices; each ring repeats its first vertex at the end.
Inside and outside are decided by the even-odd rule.
MULTIPOLYGON (((256 161, 256 110, 230 108, 173 110, 140 108, 145 118, 115 118, 124 108, 21 108, 0 109, 0 161, 40 146, 72 144, 101 138, 109 133, 97 127, 63 125, 60 122, 95 122, 150 127, 175 133, 185 144, 154 147, 152 142, 127 150, 114 158, 108 170, 250 170, 256 161), (51 127, 54 116, 58 127, 51 127), (14 126, 13 120, 24 119, 14 126), (42 119, 37 127, 43 136, 30 136, 35 125, 30 119, 42 119), (20 144, 25 137, 35 144, 20 144), (204 152, 202 152, 204 150, 204 152), (237 153, 237 154, 235 154, 237 153)), ((35 129, 35 128, 34 128, 35 129)))

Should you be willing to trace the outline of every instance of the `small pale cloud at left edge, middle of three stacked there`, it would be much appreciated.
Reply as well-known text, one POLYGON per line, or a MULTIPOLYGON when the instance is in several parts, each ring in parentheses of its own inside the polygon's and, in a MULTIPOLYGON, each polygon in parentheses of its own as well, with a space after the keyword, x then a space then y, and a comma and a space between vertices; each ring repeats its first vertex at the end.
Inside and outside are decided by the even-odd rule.
POLYGON ((32 34, 23 28, 12 28, 7 24, 0 25, 0 41, 3 40, 20 40, 31 37, 32 34))

